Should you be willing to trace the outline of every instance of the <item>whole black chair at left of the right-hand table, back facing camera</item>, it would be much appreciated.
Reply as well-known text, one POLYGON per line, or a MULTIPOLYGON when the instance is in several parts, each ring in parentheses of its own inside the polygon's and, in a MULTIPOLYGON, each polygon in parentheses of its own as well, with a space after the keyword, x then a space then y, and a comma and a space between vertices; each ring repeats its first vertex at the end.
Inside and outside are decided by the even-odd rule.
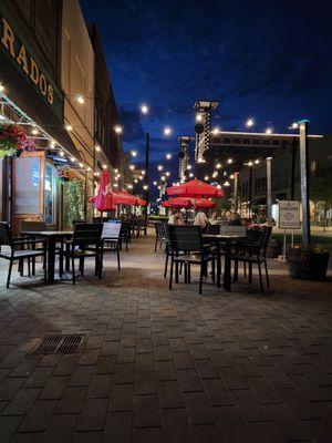
MULTIPOLYGON (((207 276, 208 262, 212 264, 212 280, 215 280, 215 265, 219 265, 216 254, 210 253, 211 243, 205 245, 201 238, 201 230, 199 226, 174 226, 169 225, 169 240, 170 240, 170 275, 169 275, 169 289, 173 284, 173 272, 175 265, 175 281, 178 282, 178 265, 183 264, 185 267, 185 282, 190 282, 190 266, 198 265, 200 267, 199 275, 199 293, 203 288, 203 277, 207 276)), ((219 266, 218 266, 219 268, 219 266)), ((217 270, 220 275, 220 269, 217 270)))

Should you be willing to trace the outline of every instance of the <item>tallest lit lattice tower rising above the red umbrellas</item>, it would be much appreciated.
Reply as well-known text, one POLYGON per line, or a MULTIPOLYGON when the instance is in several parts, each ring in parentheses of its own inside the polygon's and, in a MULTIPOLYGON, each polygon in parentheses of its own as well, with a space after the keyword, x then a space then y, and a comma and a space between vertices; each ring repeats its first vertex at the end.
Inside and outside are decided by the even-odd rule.
POLYGON ((211 135, 211 112, 218 107, 219 102, 199 100, 195 102, 196 110, 196 141, 195 141, 195 162, 204 162, 204 153, 210 146, 211 135))

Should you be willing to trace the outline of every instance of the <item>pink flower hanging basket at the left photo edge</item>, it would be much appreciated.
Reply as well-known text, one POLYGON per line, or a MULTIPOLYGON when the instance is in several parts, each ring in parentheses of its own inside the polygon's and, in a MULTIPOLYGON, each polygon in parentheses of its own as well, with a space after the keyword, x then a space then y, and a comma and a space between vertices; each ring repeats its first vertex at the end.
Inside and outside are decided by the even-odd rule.
POLYGON ((0 125, 0 158, 19 157, 23 152, 35 150, 35 142, 18 125, 0 125))

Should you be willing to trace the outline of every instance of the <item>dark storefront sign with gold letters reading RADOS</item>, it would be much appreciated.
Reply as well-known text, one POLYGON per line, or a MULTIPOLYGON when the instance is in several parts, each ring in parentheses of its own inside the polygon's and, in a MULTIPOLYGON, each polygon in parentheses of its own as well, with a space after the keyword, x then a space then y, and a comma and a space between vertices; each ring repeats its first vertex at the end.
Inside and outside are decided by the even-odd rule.
MULTIPOLYGON (((23 42, 15 32, 15 28, 10 19, 4 17, 0 10, 0 51, 11 60, 12 64, 31 83, 40 96, 51 106, 52 111, 61 117, 63 95, 59 87, 51 80, 46 70, 38 61, 38 58, 29 49, 28 43, 23 42), (54 97, 60 97, 61 109, 54 103, 54 97), (60 112, 59 112, 60 111, 60 112)), ((0 66, 1 80, 1 66, 0 66)))

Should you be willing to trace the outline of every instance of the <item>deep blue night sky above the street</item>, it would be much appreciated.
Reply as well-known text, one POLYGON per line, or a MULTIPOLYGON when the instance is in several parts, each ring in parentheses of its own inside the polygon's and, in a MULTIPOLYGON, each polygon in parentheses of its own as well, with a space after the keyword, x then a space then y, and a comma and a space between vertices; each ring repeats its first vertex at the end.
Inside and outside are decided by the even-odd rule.
MULTIPOLYGON (((308 117, 332 132, 332 2, 298 0, 82 0, 98 24, 126 150, 152 133, 152 159, 194 134, 193 104, 220 101, 214 124, 287 131, 308 117), (151 106, 139 116, 139 104, 151 106), (174 128, 165 140, 163 127, 174 128)), ((173 159, 176 172, 177 161, 173 159)), ((177 178, 177 177, 175 177, 177 178)))

